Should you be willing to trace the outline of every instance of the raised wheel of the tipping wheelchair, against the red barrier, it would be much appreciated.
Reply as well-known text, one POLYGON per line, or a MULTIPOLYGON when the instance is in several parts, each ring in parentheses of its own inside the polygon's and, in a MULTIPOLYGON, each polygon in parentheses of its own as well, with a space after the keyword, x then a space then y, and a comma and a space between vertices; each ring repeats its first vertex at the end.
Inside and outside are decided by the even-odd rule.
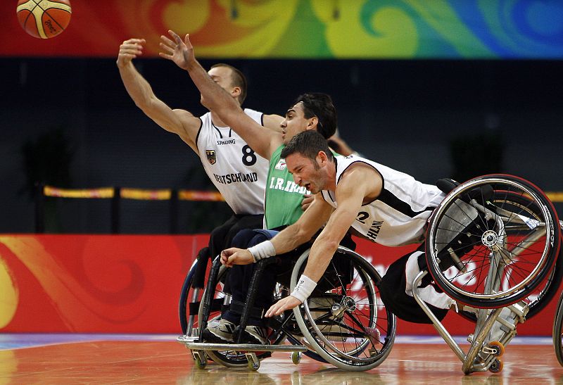
POLYGON ((542 295, 555 293, 549 290, 560 275, 540 285, 554 269, 559 239, 557 213, 540 189, 512 175, 486 175, 460 184, 436 208, 426 261, 436 284, 455 300, 498 308, 538 287, 542 295))

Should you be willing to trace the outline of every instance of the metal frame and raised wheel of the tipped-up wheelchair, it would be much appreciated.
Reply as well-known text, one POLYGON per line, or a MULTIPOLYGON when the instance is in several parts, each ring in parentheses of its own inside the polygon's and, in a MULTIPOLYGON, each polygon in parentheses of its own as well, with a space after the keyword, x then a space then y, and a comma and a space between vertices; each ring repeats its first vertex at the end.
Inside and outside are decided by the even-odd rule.
MULTIPOLYGON (((429 265, 429 270, 433 273, 433 277, 438 278, 436 279, 438 286, 441 286, 444 291, 446 291, 443 286, 444 283, 445 286, 448 286, 448 282, 444 279, 445 277, 441 274, 441 272, 436 272, 436 270, 438 270, 438 266, 441 262, 443 262, 440 258, 438 258, 439 246, 435 242, 438 235, 433 233, 436 228, 440 228, 439 223, 436 225, 436 222, 441 220, 439 215, 447 210, 444 206, 447 207, 448 204, 452 206, 455 206, 456 204, 459 205, 459 203, 456 203, 455 201, 460 198, 461 194, 467 193, 472 186, 476 185, 479 187, 480 185, 486 184, 508 184, 521 189, 521 194, 523 194, 522 196, 526 196, 525 201, 528 203, 526 205, 526 210, 524 211, 529 213, 538 213, 538 219, 526 217, 521 215, 521 213, 514 215, 514 213, 508 212, 508 210, 505 210, 502 206, 495 207, 495 205, 490 204, 490 197, 486 198, 483 194, 481 194, 481 202, 478 202, 476 198, 471 198, 465 199, 465 202, 462 203, 462 206, 465 207, 462 210, 464 215, 466 215, 466 217, 470 217, 471 220, 467 222, 464 222, 464 220, 456 220, 457 223, 455 225, 460 227, 460 234, 466 232, 468 223, 474 222, 476 217, 479 215, 491 219, 493 223, 495 223, 493 227, 482 229, 483 235, 481 236, 481 242, 484 246, 486 246, 489 258, 488 272, 486 274, 482 291, 479 293, 471 293, 466 291, 467 289, 461 290, 457 287, 449 288, 453 289, 449 291, 450 293, 455 293, 457 291, 456 300, 461 302, 464 302, 463 300, 471 300, 472 302, 466 302, 469 302, 471 305, 478 308, 476 309, 477 317, 475 332, 474 334, 469 335, 467 339, 471 343, 467 354, 464 353, 460 345, 453 339, 445 327, 443 327, 438 318, 434 315, 434 313, 432 313, 429 306, 422 301, 419 284, 428 272, 426 270, 421 271, 417 274, 417 277, 415 277, 414 282, 412 283, 412 294, 415 300, 422 310, 424 310, 424 313, 426 313, 426 315, 428 315, 431 319, 431 322, 434 324, 438 334, 442 336, 448 346, 450 346, 457 357, 460 358, 462 361, 462 371, 465 374, 472 372, 484 372, 486 370, 491 372, 500 372, 500 370, 502 370, 502 360, 500 360, 500 356, 504 353, 505 346, 507 346, 514 336, 516 336, 517 324, 523 323, 526 320, 526 314, 528 313, 529 307, 526 302, 524 302, 524 299, 536 286, 538 286, 538 284, 540 284, 542 279, 548 275, 551 270, 555 270, 555 264, 558 263, 556 259, 559 249, 557 245, 560 243, 560 233, 557 226, 554 226, 554 224, 557 224, 557 214, 555 213, 555 209, 551 205, 550 201, 543 196, 541 191, 524 179, 519 179, 510 175, 479 177, 456 187, 450 194, 448 194, 448 196, 446 196, 444 201, 441 203, 441 207, 437 208, 434 211, 433 217, 431 217, 429 236, 427 236, 426 239, 426 261, 429 265), (538 210, 531 209, 534 205, 538 206, 538 210), (469 210, 474 210, 474 212, 472 213, 467 208, 469 208, 469 210), (514 225, 514 223, 517 223, 517 225, 514 225), (525 232, 525 236, 517 243, 511 244, 510 246, 507 245, 507 243, 509 243, 507 242, 507 232, 514 231, 514 229, 509 229, 509 227, 512 226, 517 228, 521 225, 522 228, 526 229, 526 227, 522 224, 529 227, 529 231, 525 232), (495 242, 489 242, 487 237, 493 235, 495 242), (545 236, 544 249, 540 258, 538 258, 538 264, 533 268, 529 276, 521 279, 521 282, 514 285, 512 288, 501 287, 501 273, 504 273, 507 267, 517 263, 519 258, 526 258, 526 255, 523 255, 523 253, 526 251, 528 244, 535 243, 543 236, 545 236), (521 289, 520 286, 522 286, 523 289, 521 289), (503 310, 502 305, 514 313, 514 322, 510 322, 500 317, 500 313, 503 310), (488 308, 493 308, 494 310, 488 310, 488 308), (500 323, 505 330, 502 330, 502 337, 499 341, 490 341, 489 336, 491 329, 497 322, 500 323)), ((493 191, 493 194, 495 194, 495 191, 493 191)), ((507 194, 506 191, 502 191, 502 194, 505 194, 506 198, 510 196, 510 199, 514 201, 514 196, 507 194)), ((517 205, 514 205, 514 207, 517 207, 517 205)), ((563 222, 559 222, 559 225, 563 227, 563 222)), ((467 260, 462 261, 455 251, 453 251, 453 248, 450 247, 450 244, 441 246, 443 249, 447 249, 451 256, 451 261, 450 263, 446 263, 446 266, 453 266, 460 273, 467 272, 469 262, 467 260)), ((527 253, 529 253, 529 251, 527 253)), ((555 282, 548 282, 547 286, 543 288, 545 291, 551 291, 550 295, 552 295, 553 291, 555 291, 559 286, 560 277, 559 280, 557 280, 557 277, 555 277, 555 282)), ((550 299, 550 295, 545 298, 550 299)), ((543 308, 546 304, 547 301, 543 301, 540 305, 543 308)), ((563 317, 563 311, 558 314, 560 317, 563 317)), ((559 338, 559 342, 560 341, 561 339, 559 338)))

